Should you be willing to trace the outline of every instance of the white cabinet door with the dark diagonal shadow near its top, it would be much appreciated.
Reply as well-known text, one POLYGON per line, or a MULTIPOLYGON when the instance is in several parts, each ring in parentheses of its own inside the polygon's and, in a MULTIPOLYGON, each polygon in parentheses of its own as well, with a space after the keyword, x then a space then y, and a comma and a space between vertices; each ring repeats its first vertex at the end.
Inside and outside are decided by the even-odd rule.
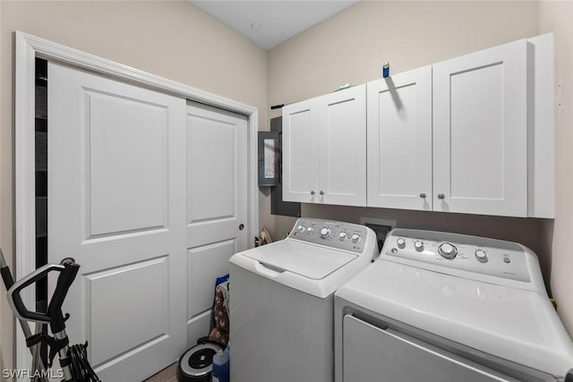
POLYGON ((432 66, 368 83, 368 206, 432 209, 432 66))

